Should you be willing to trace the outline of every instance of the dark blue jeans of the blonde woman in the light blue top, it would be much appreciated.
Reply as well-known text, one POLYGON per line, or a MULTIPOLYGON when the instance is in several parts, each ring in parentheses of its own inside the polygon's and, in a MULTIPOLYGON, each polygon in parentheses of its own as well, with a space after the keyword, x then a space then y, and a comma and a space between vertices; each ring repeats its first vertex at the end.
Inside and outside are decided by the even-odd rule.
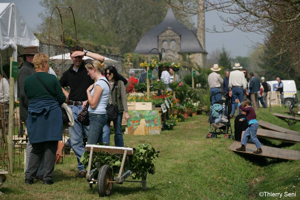
POLYGON ((107 114, 88 113, 90 128, 88 129, 88 145, 102 143, 103 127, 107 122, 107 114))

